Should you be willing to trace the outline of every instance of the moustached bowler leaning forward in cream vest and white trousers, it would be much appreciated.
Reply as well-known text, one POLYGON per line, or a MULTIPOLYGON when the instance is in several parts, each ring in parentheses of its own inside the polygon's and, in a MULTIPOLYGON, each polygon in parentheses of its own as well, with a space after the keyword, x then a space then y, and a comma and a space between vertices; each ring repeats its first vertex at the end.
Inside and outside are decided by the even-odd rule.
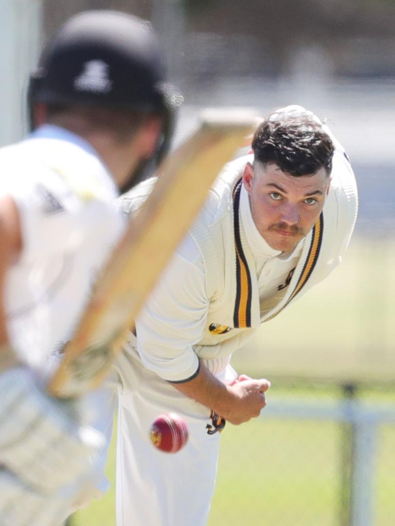
MULTIPOLYGON (((153 184, 122 197, 127 214, 153 184)), ((257 417, 270 387, 236 373, 232 352, 260 327, 264 342, 265 323, 338 266, 356 215, 343 147, 300 106, 267 116, 251 153, 225 165, 114 364, 118 526, 206 523, 219 431, 257 417), (175 454, 148 438, 168 412, 189 427, 175 454)))

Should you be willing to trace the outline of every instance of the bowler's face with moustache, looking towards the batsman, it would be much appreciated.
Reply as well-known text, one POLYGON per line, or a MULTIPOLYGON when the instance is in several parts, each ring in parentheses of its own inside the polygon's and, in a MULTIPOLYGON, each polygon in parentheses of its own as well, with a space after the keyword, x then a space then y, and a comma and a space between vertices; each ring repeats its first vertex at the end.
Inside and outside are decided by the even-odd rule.
POLYGON ((252 217, 265 241, 275 250, 293 250, 313 228, 329 191, 324 168, 296 177, 272 163, 247 164, 243 184, 250 196, 252 217))

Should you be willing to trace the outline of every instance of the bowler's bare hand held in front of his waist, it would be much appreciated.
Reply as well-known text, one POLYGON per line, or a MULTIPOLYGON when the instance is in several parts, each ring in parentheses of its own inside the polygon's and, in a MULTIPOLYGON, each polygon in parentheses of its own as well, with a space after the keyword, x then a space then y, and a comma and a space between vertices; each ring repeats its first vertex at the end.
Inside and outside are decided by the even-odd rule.
POLYGON ((221 416, 236 425, 258 417, 266 405, 265 392, 269 388, 268 380, 256 380, 246 375, 239 376, 232 385, 228 386, 233 401, 227 414, 222 411, 221 416))

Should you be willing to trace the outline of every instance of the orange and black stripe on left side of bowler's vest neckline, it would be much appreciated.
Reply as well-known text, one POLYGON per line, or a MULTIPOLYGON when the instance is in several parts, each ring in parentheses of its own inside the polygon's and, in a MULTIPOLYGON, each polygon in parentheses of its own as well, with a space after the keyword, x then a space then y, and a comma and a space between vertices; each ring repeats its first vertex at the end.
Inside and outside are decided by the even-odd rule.
POLYGON ((233 312, 233 326, 237 328, 251 327, 252 301, 251 275, 240 237, 239 208, 241 185, 242 179, 239 179, 233 190, 233 225, 236 249, 236 301, 233 312))

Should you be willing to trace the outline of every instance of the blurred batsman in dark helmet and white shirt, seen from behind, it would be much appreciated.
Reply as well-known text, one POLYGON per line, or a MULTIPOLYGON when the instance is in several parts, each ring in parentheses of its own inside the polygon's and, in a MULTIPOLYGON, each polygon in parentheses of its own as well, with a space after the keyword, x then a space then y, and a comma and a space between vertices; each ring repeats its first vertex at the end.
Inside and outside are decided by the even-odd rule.
POLYGON ((169 145, 171 100, 146 23, 80 13, 32 75, 32 133, 0 150, 2 526, 58 526, 95 480, 104 439, 47 394, 45 364, 124 230, 116 197, 169 145))

